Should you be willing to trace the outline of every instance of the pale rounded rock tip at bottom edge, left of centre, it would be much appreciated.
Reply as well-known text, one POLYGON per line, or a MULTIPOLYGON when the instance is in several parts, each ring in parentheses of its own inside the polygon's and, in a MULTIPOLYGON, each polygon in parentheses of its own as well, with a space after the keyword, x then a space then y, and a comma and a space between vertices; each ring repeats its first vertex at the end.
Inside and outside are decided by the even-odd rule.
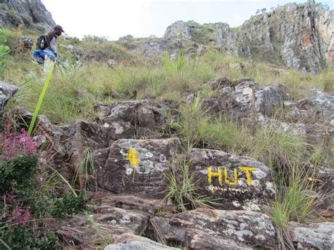
POLYGON ((147 239, 145 237, 140 237, 137 235, 123 234, 115 239, 113 244, 106 246, 104 250, 168 250, 174 249, 174 247, 164 246, 157 242, 147 239))

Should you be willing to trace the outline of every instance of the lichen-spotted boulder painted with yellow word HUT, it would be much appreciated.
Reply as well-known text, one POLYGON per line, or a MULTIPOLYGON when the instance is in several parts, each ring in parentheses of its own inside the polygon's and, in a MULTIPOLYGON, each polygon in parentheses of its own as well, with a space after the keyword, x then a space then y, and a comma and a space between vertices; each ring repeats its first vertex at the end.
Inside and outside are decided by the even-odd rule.
POLYGON ((187 155, 197 192, 216 199, 227 210, 266 211, 275 194, 271 171, 252 158, 212 149, 192 149, 187 155))

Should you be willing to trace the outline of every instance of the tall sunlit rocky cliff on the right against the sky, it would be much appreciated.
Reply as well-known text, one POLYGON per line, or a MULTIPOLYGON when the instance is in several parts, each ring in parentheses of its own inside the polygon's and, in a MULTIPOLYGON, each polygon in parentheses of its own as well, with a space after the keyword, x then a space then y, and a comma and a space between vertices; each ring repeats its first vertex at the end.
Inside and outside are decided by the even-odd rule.
POLYGON ((178 21, 167 28, 164 37, 215 44, 226 54, 316 73, 334 65, 333 32, 334 11, 308 1, 255 15, 237 28, 178 21))

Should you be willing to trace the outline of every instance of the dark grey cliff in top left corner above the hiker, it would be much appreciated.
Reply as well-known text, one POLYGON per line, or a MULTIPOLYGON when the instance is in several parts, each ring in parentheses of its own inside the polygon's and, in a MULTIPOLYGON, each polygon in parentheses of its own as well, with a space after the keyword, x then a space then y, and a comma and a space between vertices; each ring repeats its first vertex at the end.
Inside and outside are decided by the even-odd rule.
POLYGON ((42 25, 47 30, 56 24, 41 0, 0 0, 0 26, 42 25))

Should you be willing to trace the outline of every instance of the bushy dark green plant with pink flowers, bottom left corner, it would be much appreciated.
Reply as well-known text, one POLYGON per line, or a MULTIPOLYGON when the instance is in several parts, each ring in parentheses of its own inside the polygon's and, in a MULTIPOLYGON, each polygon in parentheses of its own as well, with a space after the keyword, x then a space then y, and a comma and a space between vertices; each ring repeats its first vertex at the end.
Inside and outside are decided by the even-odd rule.
POLYGON ((11 249, 62 249, 54 222, 85 209, 83 196, 64 194, 49 177, 54 151, 41 146, 45 137, 5 124, 0 123, 0 239, 11 249))

